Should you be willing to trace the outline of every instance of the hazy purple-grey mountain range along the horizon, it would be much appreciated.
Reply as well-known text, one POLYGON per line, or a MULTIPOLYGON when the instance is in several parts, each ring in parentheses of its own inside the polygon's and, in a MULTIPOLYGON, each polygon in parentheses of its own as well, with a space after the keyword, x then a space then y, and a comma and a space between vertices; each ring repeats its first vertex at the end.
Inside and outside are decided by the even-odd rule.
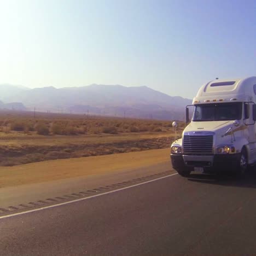
POLYGON ((184 107, 191 103, 187 98, 169 96, 147 86, 99 84, 60 89, 0 84, 0 100, 19 110, 179 120, 184 119, 184 107))

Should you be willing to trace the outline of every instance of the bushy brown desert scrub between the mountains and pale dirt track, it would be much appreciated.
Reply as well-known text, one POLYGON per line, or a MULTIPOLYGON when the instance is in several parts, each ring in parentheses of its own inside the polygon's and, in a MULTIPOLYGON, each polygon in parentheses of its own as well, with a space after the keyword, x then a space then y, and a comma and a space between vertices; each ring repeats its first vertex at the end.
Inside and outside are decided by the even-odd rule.
MULTIPOLYGON (((182 124, 184 126, 184 124, 182 124)), ((155 121, 144 119, 122 119, 87 117, 84 115, 62 115, 37 113, 0 113, 0 131, 3 133, 23 132, 43 135, 75 135, 95 133, 125 133, 146 131, 170 131, 171 121, 155 121), (49 130, 47 132, 46 130, 49 130)))

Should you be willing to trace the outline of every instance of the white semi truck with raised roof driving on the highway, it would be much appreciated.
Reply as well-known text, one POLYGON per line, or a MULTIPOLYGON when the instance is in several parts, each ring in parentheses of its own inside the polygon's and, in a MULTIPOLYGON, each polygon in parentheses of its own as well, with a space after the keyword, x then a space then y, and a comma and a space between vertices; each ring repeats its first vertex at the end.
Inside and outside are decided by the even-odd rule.
MULTIPOLYGON (((213 80, 189 106, 182 138, 171 145, 171 162, 181 176, 190 172, 235 171, 256 163, 256 77, 213 80)), ((176 126, 176 122, 173 124, 176 126)))

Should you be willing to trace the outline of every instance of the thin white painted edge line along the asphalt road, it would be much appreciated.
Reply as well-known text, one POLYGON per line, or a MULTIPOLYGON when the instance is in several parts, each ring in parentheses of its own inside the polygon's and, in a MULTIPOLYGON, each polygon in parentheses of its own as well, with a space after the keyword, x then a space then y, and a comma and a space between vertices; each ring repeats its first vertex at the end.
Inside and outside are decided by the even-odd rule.
POLYGON ((159 179, 165 179, 165 178, 174 176, 176 174, 178 174, 178 173, 173 173, 173 174, 170 174, 170 175, 167 175, 167 176, 164 176, 164 177, 160 177, 160 178, 157 178, 157 179, 152 179, 152 180, 147 181, 147 182, 142 182, 142 183, 131 185, 131 186, 125 187, 125 188, 115 189, 115 190, 104 192, 104 193, 97 194, 97 195, 83 197, 83 198, 75 199, 75 200, 68 201, 68 202, 57 203, 56 205, 50 205, 50 206, 45 206, 45 207, 42 207, 42 208, 37 208, 37 209, 25 211, 25 212, 19 212, 19 213, 13 213, 13 214, 5 215, 5 216, 0 217, 0 219, 10 218, 10 217, 13 217, 13 216, 18 216, 18 215, 22 215, 22 214, 26 214, 26 213, 30 213, 30 212, 38 212, 38 211, 41 211, 41 210, 44 210, 44 209, 54 208, 54 207, 61 206, 61 205, 68 205, 69 203, 79 202, 79 201, 83 201, 83 200, 86 200, 86 199, 94 198, 94 197, 97 197, 97 196, 102 196, 102 195, 107 195, 107 194, 115 193, 115 192, 118 192, 118 191, 121 191, 121 190, 137 187, 139 185, 147 184, 147 183, 154 182, 154 181, 159 181, 159 179))

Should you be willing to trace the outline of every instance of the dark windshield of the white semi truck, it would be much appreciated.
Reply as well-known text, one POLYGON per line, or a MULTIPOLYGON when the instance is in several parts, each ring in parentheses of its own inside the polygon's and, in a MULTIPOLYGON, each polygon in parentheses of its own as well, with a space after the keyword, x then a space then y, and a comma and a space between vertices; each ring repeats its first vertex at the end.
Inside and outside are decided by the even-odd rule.
POLYGON ((198 104, 193 113, 193 121, 228 121, 241 117, 242 102, 198 104))

